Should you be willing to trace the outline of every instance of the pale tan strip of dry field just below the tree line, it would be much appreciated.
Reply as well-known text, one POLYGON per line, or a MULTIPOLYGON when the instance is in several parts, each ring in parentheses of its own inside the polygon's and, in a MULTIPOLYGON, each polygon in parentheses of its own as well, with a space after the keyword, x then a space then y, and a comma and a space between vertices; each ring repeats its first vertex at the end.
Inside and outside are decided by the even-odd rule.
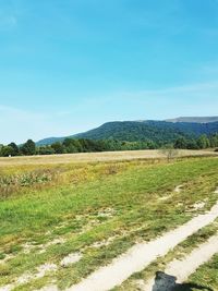
MULTIPOLYGON (((218 153, 209 150, 187 150, 181 149, 179 157, 191 156, 216 156, 218 153)), ((72 163, 72 162, 96 162, 96 161, 118 161, 118 160, 134 160, 134 159, 155 159, 164 158, 165 156, 156 149, 150 150, 128 150, 128 151, 105 151, 105 153, 81 153, 66 155, 51 156, 29 156, 29 157, 7 157, 0 158, 0 167, 15 165, 56 165, 56 163, 72 163)))

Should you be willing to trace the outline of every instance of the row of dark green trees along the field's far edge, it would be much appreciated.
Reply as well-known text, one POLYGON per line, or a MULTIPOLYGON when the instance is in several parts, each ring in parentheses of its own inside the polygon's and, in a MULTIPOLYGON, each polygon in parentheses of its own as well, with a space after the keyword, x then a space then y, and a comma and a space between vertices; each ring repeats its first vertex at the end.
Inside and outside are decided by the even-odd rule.
MULTIPOLYGON (((0 145, 0 156, 33 156, 33 155, 53 155, 53 154, 73 154, 73 153, 96 153, 96 151, 113 151, 113 150, 134 150, 134 149, 156 149, 167 145, 161 142, 149 140, 138 142, 125 142, 118 140, 86 140, 86 138, 65 138, 63 142, 57 142, 51 145, 36 146, 28 140, 23 145, 11 143, 9 145, 0 145)), ((205 149, 209 147, 218 147, 218 134, 210 136, 201 135, 197 138, 178 137, 172 143, 173 148, 183 149, 205 149)))

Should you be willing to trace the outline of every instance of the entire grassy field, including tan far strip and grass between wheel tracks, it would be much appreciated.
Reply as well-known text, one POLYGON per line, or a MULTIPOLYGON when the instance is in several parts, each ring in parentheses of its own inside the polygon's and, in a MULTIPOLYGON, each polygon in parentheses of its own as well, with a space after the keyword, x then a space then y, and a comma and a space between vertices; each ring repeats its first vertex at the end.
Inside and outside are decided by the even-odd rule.
MULTIPOLYGON (((218 159, 192 154, 203 157, 167 162, 157 151, 128 151, 1 158, 0 287, 25 275, 14 290, 53 282, 64 290, 136 242, 149 241, 209 209, 217 201, 218 159), (182 191, 174 191, 181 184, 182 191), (203 201, 203 209, 193 206, 203 201), (80 255, 80 260, 63 267, 69 254, 80 255), (44 264, 57 268, 25 280, 44 264)), ((203 229, 118 290, 137 290, 135 280, 217 230, 217 223, 203 229)), ((215 256, 191 279, 218 290, 217 269, 215 256)))

